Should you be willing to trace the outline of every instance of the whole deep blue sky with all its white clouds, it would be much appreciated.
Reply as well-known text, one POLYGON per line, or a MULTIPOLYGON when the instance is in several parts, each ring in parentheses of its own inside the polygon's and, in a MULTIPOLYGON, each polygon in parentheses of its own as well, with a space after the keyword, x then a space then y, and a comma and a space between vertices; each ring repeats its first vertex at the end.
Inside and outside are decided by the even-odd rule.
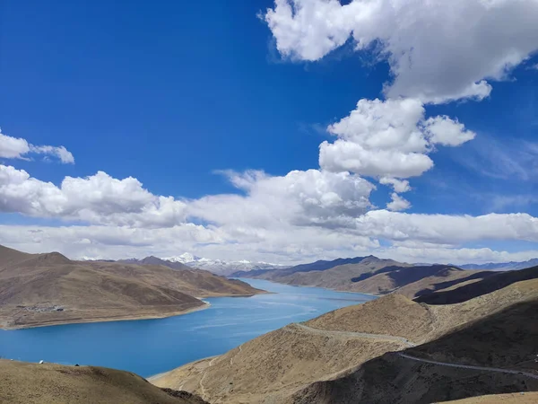
POLYGON ((538 0, 0 3, 0 243, 538 257, 538 0))

